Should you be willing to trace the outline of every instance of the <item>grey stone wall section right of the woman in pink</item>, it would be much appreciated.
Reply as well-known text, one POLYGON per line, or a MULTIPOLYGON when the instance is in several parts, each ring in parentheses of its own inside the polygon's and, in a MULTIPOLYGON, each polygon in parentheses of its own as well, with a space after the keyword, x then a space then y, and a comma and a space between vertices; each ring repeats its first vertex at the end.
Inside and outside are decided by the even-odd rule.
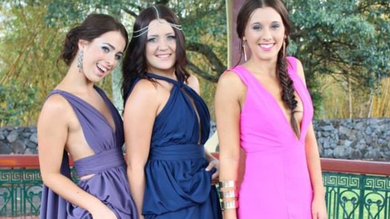
POLYGON ((390 118, 315 120, 321 157, 390 161, 390 118))

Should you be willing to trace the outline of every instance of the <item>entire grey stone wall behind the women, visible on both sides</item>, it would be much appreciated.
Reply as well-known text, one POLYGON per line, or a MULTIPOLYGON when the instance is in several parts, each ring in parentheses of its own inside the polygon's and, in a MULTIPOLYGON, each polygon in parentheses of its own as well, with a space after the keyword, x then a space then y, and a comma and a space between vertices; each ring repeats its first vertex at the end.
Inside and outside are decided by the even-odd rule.
MULTIPOLYGON (((313 125, 321 157, 390 161, 390 118, 314 120, 313 125)), ((0 154, 36 153, 35 127, 0 127, 0 154)))

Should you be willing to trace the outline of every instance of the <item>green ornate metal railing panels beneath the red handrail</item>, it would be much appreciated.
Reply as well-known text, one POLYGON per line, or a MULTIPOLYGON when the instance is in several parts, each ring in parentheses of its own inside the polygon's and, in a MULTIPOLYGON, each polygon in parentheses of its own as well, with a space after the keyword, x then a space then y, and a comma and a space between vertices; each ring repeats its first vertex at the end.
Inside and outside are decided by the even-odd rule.
MULTIPOLYGON (((389 177, 324 172, 323 181, 329 219, 390 218, 389 177)), ((0 169, 0 216, 38 215, 41 186, 37 169, 0 169)))

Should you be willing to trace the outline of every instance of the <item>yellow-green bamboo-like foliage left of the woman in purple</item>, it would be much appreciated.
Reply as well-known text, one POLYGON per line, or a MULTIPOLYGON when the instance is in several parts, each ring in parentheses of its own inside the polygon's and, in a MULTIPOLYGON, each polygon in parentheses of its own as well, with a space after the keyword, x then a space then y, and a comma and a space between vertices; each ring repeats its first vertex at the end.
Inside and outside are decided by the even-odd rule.
MULTIPOLYGON (((46 95, 65 75, 57 58, 67 28, 48 26, 51 1, 0 3, 0 125, 34 125, 46 95)), ((109 81, 109 79, 106 79, 109 81)), ((110 83, 103 82, 110 90, 110 83), (108 86, 107 86, 108 85, 108 86)))

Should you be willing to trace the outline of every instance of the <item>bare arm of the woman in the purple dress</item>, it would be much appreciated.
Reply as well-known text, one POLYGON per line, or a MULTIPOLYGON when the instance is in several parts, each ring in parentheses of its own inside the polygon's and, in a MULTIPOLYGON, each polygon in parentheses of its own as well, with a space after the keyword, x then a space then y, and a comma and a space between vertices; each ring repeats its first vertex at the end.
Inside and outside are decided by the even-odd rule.
MULTIPOLYGON (((37 125, 41 175, 44 184, 55 193, 94 215, 99 209, 109 208, 60 173, 68 135, 69 110, 69 104, 58 95, 49 97, 42 108, 37 125)), ((110 218, 116 218, 112 216, 115 216, 113 213, 110 218)))

